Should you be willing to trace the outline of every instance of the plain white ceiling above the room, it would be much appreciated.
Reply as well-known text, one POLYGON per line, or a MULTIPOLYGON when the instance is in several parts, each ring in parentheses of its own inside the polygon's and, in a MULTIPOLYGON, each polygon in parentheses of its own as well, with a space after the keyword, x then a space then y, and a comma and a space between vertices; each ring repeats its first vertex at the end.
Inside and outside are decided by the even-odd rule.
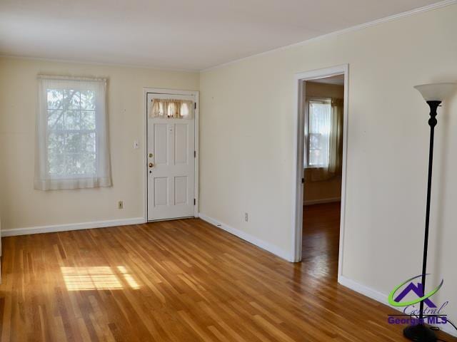
POLYGON ((0 54, 201 70, 436 0, 0 0, 0 54))

